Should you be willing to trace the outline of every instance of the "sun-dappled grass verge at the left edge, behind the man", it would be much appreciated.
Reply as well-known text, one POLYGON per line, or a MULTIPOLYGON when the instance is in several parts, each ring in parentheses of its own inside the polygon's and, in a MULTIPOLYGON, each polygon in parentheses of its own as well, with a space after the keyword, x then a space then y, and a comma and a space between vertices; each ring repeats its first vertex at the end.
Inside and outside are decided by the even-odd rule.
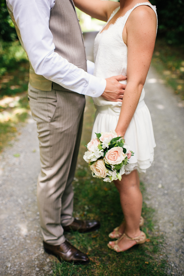
POLYGON ((0 151, 28 116, 29 62, 19 41, 0 41, 0 151))

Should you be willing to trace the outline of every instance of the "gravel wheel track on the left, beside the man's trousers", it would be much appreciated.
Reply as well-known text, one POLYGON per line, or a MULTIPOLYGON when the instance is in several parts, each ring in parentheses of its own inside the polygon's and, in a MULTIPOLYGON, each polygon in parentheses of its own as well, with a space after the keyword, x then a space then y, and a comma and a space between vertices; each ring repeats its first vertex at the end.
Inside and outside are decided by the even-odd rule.
POLYGON ((35 121, 30 118, 20 131, 18 141, 0 155, 0 275, 44 276, 51 262, 43 251, 36 204, 40 164, 35 121))

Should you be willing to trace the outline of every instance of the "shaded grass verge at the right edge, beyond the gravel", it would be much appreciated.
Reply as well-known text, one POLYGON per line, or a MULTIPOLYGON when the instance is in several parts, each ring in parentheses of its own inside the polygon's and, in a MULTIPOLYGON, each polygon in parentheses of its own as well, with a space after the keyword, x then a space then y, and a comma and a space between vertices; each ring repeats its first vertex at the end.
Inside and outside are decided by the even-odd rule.
POLYGON ((173 46, 163 39, 156 39, 152 65, 164 82, 184 100, 184 45, 173 46))

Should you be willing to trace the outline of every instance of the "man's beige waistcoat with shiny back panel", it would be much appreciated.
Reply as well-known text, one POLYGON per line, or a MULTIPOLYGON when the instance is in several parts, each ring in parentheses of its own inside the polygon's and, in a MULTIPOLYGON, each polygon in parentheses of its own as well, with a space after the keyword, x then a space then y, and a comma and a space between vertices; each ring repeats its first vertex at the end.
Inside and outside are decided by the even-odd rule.
MULTIPOLYGON (((21 39, 20 30, 17 27, 13 13, 7 6, 9 15, 15 25, 15 29, 24 48, 21 39)), ((53 35, 55 52, 67 59, 68 62, 75 64, 77 67, 87 71, 86 54, 84 41, 79 25, 76 10, 71 5, 70 0, 55 0, 55 5, 50 12, 49 29, 53 35)), ((25 50, 25 48, 24 48, 25 50)), ((37 75, 30 62, 29 83, 36 89, 51 91, 52 85, 56 90, 70 91, 61 85, 47 80, 44 76, 37 75)))

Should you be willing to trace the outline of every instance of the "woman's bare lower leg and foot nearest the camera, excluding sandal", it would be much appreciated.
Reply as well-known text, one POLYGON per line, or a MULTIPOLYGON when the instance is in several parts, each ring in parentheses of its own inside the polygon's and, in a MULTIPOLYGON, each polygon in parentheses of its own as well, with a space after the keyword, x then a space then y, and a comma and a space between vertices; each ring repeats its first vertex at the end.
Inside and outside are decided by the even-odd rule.
MULTIPOLYGON (((119 194, 122 211, 125 218, 124 232, 131 238, 135 238, 140 235, 140 216, 142 209, 142 194, 139 189, 139 177, 137 171, 131 172, 129 175, 122 175, 121 181, 114 181, 119 194)), ((119 243, 121 250, 127 250, 136 244, 135 241, 123 238, 119 243)), ((114 242, 110 242, 113 246, 114 242)))

